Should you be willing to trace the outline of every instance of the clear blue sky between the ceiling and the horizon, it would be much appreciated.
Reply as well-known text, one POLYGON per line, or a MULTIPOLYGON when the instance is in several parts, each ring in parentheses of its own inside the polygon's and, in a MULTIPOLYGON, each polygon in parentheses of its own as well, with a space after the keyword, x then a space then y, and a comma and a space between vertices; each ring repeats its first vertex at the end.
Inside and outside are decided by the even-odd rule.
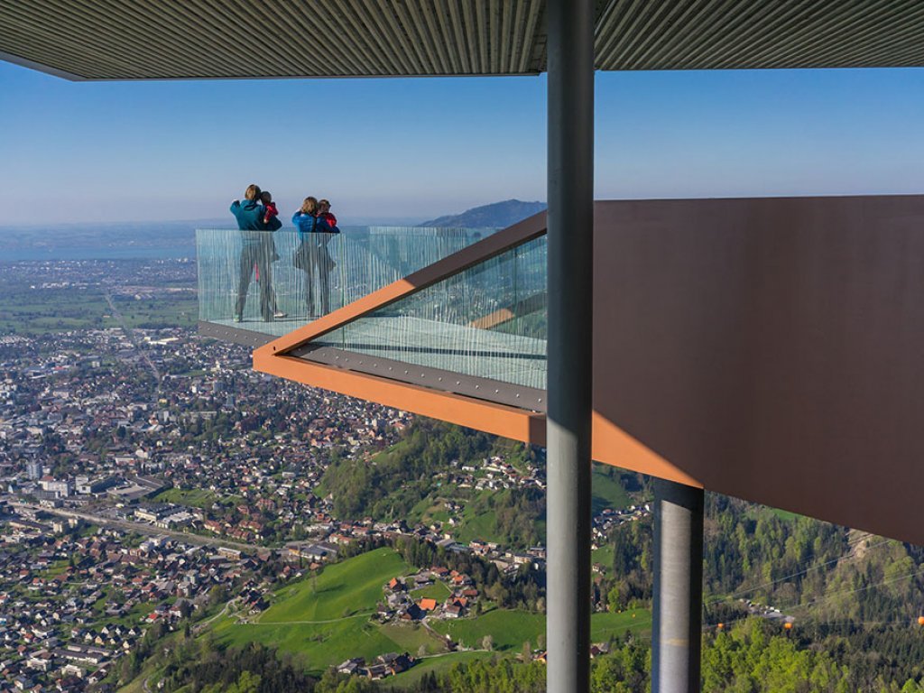
MULTIPOLYGON (((0 224, 545 199, 545 79, 68 82, 0 62, 0 224)), ((599 73, 596 196, 924 192, 924 69, 599 73)))

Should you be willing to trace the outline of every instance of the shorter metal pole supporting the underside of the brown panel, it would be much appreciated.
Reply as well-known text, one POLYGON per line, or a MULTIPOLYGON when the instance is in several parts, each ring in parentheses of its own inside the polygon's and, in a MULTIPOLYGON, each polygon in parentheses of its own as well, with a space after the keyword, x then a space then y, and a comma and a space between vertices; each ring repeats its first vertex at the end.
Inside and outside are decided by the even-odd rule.
POLYGON ((698 693, 703 491, 654 482, 651 693, 698 693))

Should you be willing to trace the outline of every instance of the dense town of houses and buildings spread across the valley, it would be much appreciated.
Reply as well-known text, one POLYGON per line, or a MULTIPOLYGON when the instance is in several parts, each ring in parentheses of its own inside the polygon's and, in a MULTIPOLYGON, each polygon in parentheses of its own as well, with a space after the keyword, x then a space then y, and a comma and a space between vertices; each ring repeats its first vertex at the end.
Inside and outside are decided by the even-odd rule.
MULTIPOLYGON (((36 293, 103 283, 122 301, 108 298, 110 317, 125 301, 177 291, 118 266, 18 263, 0 275, 37 275, 36 293)), ((162 261, 160 279, 191 271, 162 261)), ((508 574, 541 568, 541 546, 456 541, 462 508, 453 503, 448 521, 429 525, 334 517, 318 492, 331 451, 372 456, 410 421, 251 371, 247 349, 188 327, 0 334, 0 690, 104 689, 151 629, 188 628, 191 614, 210 609, 253 617, 280 583, 354 545, 404 537, 480 555, 508 574)), ((545 484, 543 468, 500 456, 456 461, 442 481, 486 492, 545 484)), ((647 512, 603 511, 596 541, 647 512)), ((432 565, 384 584, 375 617, 465 618, 481 598, 468 576, 432 565), (444 600, 414 597, 436 582, 444 600)), ((339 670, 378 678, 413 661, 383 653, 339 670)))

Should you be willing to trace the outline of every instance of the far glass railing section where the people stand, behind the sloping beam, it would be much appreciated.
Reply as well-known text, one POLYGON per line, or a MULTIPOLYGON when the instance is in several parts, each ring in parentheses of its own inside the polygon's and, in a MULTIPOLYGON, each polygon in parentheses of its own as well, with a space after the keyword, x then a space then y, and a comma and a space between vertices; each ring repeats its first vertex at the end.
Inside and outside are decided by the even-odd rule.
POLYGON ((200 320, 281 336, 490 235, 495 229, 341 227, 300 246, 275 233, 198 229, 200 320))

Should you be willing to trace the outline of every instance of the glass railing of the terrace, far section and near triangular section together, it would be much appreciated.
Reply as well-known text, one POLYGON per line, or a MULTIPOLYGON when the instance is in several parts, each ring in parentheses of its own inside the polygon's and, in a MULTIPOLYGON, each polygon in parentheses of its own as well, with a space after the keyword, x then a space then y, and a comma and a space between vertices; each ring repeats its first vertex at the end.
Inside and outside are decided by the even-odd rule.
MULTIPOLYGON (((493 232, 345 228, 326 246, 332 266, 324 278, 317 262, 297 260, 301 239, 294 230, 266 234, 262 241, 250 237, 261 250, 247 252, 241 232, 202 229, 197 243, 203 332, 257 346, 370 297, 493 232), (238 316, 242 275, 249 276, 249 286, 238 316), (320 298, 325 280, 326 304, 320 298), (260 286, 264 281, 272 286, 272 306, 266 305, 267 289, 260 286), (276 317, 269 319, 269 311, 276 317)), ((348 361, 352 369, 387 371, 388 377, 406 382, 429 378, 440 383, 439 389, 476 395, 501 395, 509 389, 505 385, 512 385, 515 388, 506 395, 511 404, 541 409, 545 309, 546 240, 539 236, 511 243, 461 272, 327 328, 310 340, 310 346, 300 348, 298 356, 335 366, 348 361), (408 366, 416 368, 411 372, 408 366), (453 374, 465 382, 448 383, 447 378, 456 380, 453 374)))

